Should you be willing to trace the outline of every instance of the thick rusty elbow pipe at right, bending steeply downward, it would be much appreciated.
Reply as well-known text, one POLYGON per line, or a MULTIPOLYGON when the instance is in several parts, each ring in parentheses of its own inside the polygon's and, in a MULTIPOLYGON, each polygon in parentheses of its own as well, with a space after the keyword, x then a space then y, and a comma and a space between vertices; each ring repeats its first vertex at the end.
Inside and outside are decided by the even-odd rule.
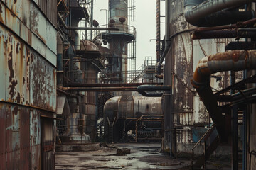
POLYGON ((192 84, 213 119, 222 141, 227 140, 225 119, 210 87, 210 74, 244 69, 256 69, 256 50, 232 50, 203 57, 193 74, 192 84))

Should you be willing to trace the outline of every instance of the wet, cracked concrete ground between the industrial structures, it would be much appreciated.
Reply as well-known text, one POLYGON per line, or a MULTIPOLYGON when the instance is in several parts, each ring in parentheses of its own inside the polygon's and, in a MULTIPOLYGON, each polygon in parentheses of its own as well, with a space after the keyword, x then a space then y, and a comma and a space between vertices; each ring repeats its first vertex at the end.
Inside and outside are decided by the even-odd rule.
MULTIPOLYGON (((224 161, 225 162, 225 161, 224 161)), ((191 169, 190 159, 171 159, 160 152, 157 143, 112 144, 97 151, 56 152, 56 170, 80 169, 191 169), (117 149, 128 148, 131 154, 117 156, 117 149)), ((209 162, 209 169, 230 169, 229 163, 209 162)))

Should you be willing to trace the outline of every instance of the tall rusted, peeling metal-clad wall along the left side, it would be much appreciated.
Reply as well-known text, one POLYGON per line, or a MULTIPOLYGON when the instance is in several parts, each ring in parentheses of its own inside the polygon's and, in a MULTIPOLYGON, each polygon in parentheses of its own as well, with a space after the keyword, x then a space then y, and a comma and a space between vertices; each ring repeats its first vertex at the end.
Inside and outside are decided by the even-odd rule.
POLYGON ((0 1, 0 169, 54 169, 55 6, 0 1))

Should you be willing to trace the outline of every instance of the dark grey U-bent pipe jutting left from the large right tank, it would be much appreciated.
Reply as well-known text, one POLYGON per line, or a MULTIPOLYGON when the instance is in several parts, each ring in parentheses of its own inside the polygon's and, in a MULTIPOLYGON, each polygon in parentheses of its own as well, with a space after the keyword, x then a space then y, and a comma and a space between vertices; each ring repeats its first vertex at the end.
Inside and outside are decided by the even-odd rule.
POLYGON ((148 94, 145 91, 171 91, 171 85, 141 85, 137 87, 137 91, 146 97, 161 97, 163 93, 148 94))

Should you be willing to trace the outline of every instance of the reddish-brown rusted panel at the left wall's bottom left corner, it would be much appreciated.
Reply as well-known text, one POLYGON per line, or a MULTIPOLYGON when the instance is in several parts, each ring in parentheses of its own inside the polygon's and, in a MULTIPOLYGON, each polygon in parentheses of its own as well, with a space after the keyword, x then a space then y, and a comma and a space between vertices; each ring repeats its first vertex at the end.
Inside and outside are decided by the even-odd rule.
POLYGON ((6 138, 3 147, 6 157, 6 169, 29 169, 30 158, 30 115, 28 108, 6 105, 6 121, 1 131, 6 138))

